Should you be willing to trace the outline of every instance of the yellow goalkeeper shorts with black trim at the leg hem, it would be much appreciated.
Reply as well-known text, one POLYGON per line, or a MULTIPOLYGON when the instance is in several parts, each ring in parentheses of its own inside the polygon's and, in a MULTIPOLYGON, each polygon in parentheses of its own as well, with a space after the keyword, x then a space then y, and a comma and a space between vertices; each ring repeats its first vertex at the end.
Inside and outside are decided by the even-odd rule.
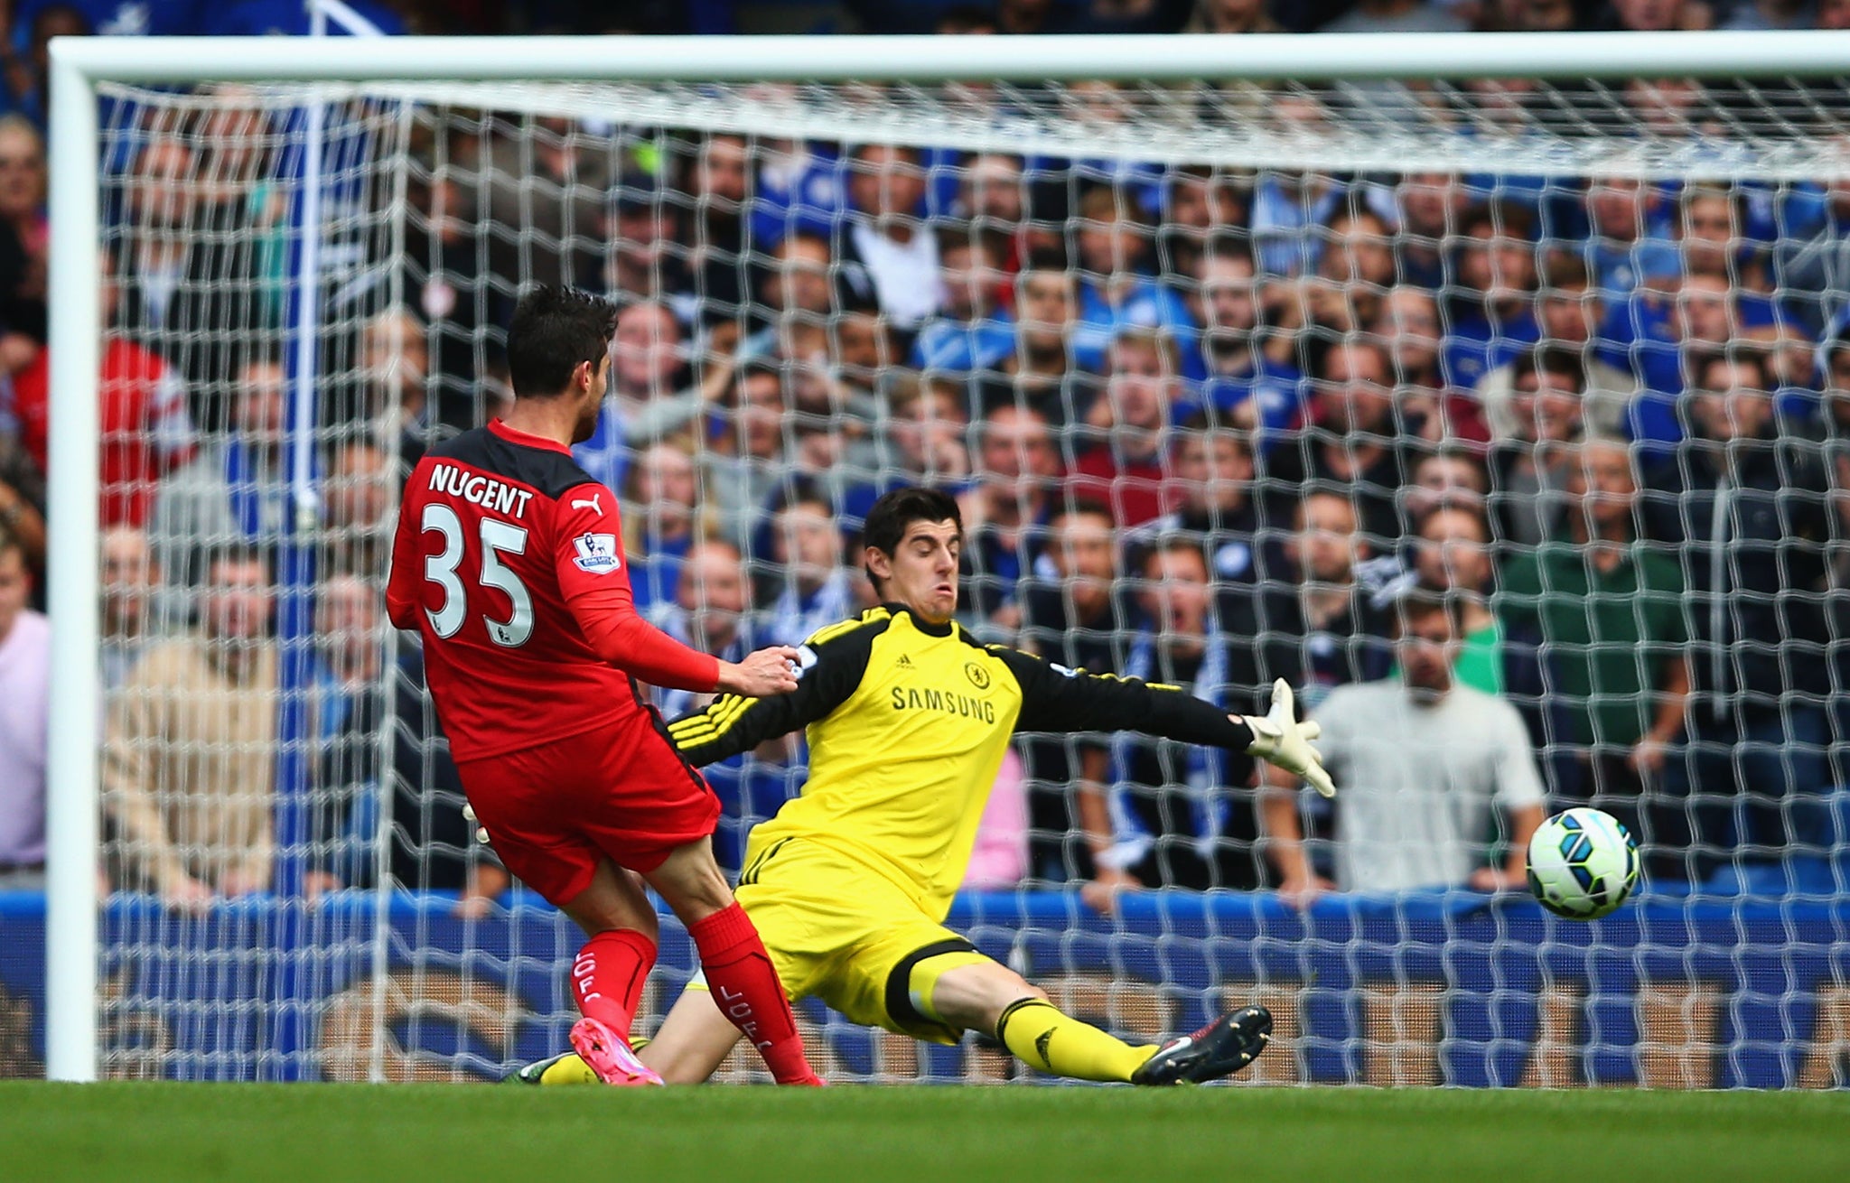
POLYGON ((955 1044, 931 1009, 938 978, 988 961, 892 880, 797 837, 751 860, 738 902, 790 1000, 821 998, 851 1022, 955 1044))

